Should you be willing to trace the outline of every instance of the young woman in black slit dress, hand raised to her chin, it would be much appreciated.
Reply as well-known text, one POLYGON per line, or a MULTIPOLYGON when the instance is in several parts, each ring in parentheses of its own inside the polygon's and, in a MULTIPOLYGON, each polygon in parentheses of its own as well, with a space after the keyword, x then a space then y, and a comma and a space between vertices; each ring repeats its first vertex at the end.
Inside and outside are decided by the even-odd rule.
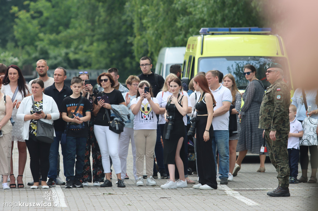
POLYGON ((181 95, 181 80, 175 78, 169 82, 172 95, 168 96, 166 112, 164 114, 166 124, 163 130, 163 159, 168 164, 170 179, 160 188, 185 188, 187 181, 184 178, 183 162, 180 150, 183 145, 185 127, 183 117, 188 112, 188 99, 181 95), (179 172, 179 180, 175 181, 175 164, 179 172))

